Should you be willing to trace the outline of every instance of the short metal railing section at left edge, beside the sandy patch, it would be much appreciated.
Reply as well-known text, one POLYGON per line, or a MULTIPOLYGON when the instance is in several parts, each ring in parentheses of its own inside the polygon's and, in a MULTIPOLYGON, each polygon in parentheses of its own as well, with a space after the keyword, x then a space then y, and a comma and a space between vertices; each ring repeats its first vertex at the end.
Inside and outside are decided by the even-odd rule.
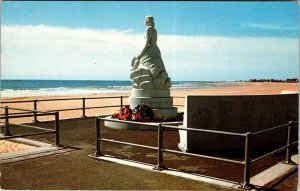
POLYGON ((60 127, 59 127, 59 112, 58 111, 51 112, 51 111, 28 110, 28 109, 12 108, 12 107, 8 107, 8 106, 5 106, 5 107, 0 106, 0 108, 5 110, 5 114, 0 116, 1 119, 5 119, 5 122, 1 122, 1 123, 5 124, 5 131, 4 131, 4 137, 0 137, 0 140, 28 137, 28 136, 36 136, 36 135, 44 135, 44 134, 55 134, 55 144, 56 144, 56 146, 61 146, 60 137, 59 137, 60 136, 60 134, 59 134, 60 127), (23 111, 23 112, 9 113, 10 110, 23 111), (32 125, 16 124, 16 123, 9 122, 9 119, 13 119, 13 118, 24 118, 24 117, 32 117, 32 116, 51 116, 51 115, 54 116, 54 118, 55 118, 55 129, 54 130, 37 127, 37 126, 32 126, 32 125), (43 132, 12 135, 12 133, 10 131, 11 125, 42 130, 43 132))

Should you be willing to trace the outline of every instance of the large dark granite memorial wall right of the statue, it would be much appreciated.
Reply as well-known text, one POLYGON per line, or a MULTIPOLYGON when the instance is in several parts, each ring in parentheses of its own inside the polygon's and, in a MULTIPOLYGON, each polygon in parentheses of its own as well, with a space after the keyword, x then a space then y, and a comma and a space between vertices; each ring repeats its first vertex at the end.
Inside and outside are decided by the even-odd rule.
MULTIPOLYGON (((298 94, 187 96, 184 126, 237 133, 257 132, 298 120, 298 94)), ((294 128, 296 129, 296 128, 294 128)), ((286 141, 286 128, 253 136, 255 147, 286 141)), ((297 131, 294 131, 294 139, 297 131)), ((244 139, 208 133, 180 132, 182 150, 243 148, 244 139), (185 146, 184 146, 185 145, 185 146), (182 148, 186 147, 186 148, 182 148)))

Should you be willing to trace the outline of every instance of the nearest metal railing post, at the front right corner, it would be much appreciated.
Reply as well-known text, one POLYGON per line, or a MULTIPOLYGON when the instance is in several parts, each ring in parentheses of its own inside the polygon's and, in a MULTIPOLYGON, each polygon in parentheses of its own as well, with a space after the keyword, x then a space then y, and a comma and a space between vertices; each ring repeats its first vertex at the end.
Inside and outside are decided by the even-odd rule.
POLYGON ((244 182, 242 185, 243 189, 251 189, 250 185, 250 169, 251 168, 251 133, 246 133, 245 139, 245 166, 244 166, 244 182))

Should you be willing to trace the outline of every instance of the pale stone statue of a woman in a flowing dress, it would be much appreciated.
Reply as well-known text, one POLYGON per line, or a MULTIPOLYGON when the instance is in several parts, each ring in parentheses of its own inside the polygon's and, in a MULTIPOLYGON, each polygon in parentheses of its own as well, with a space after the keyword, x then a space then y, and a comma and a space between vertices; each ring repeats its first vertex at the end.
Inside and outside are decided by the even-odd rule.
POLYGON ((157 31, 152 16, 146 16, 145 26, 145 47, 131 62, 132 87, 144 90, 169 89, 171 81, 156 44, 157 31))

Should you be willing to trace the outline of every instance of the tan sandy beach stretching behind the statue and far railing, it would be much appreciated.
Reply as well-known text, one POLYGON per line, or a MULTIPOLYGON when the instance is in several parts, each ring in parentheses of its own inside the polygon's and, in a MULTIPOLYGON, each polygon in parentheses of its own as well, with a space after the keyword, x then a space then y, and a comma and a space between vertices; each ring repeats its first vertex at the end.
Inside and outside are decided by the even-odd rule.
MULTIPOLYGON (((280 94, 282 91, 299 91, 298 83, 270 83, 270 82, 239 82, 228 83, 221 87, 207 87, 198 89, 171 89, 171 96, 184 97, 186 95, 264 95, 264 94, 280 94)), ((17 97, 17 98, 3 98, 3 101, 23 101, 23 100, 38 100, 37 110, 49 111, 70 108, 82 108, 82 100, 68 100, 68 101, 39 101, 43 99, 57 99, 57 98, 92 98, 92 97, 118 97, 108 99, 87 99, 86 107, 100 107, 100 106, 116 106, 101 109, 87 109, 86 116, 97 116, 105 114, 113 114, 118 111, 120 105, 120 96, 130 96, 128 93, 118 94, 88 94, 88 95, 72 95, 72 96, 36 96, 36 97, 17 97)), ((123 104, 128 104, 128 98, 123 98, 123 104)), ((183 98, 174 98, 174 105, 183 105, 183 98)), ((1 106, 9 106, 15 108, 33 109, 33 103, 1 103, 1 106)), ((179 106, 179 111, 183 111, 183 107, 179 106)), ((16 112, 16 111, 10 111, 16 112)), ((3 109, 1 113, 4 113, 3 109)), ((82 110, 61 111, 59 112, 60 119, 77 118, 82 116, 82 110)), ((39 117, 38 120, 52 120, 54 116, 39 117)), ((33 118, 14 119, 13 122, 31 122, 33 118)), ((3 121, 3 120, 1 120, 3 121)))

